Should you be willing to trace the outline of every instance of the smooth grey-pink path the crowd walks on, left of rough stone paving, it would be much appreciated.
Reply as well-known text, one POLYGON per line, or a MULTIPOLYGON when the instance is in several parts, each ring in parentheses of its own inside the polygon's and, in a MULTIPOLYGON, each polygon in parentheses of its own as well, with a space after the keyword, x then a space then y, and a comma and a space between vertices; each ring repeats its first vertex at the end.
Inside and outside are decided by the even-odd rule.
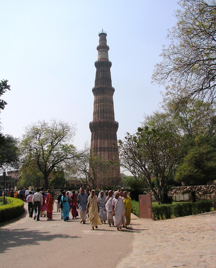
MULTIPOLYGON (((54 208, 56 211, 56 204, 54 208)), ((16 222, 1 226, 1 267, 115 267, 132 251, 134 232, 140 232, 117 232, 108 224, 91 230, 88 221, 85 225, 79 219, 64 222, 61 213, 55 211, 51 221, 44 217, 36 221, 26 214, 16 222), (127 241, 130 245, 123 249, 127 241)))

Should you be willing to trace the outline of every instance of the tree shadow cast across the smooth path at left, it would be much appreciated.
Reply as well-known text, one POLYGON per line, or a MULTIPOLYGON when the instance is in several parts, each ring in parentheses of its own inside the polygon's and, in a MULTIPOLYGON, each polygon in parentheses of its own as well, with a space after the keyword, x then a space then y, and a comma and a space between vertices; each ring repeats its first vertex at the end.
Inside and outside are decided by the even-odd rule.
POLYGON ((40 241, 51 241, 55 238, 81 238, 79 236, 68 236, 64 234, 49 234, 38 230, 22 229, 0 229, 1 244, 0 253, 4 253, 13 247, 26 245, 37 245, 40 241))

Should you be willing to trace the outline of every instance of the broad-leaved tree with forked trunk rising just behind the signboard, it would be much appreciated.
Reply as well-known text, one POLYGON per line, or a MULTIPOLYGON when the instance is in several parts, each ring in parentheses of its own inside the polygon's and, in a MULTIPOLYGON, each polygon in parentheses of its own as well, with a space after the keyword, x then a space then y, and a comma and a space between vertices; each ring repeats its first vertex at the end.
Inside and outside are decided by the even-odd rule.
POLYGON ((182 139, 177 134, 175 124, 163 113, 148 116, 144 127, 137 133, 127 133, 124 141, 119 140, 120 155, 130 155, 130 159, 143 174, 158 203, 164 203, 169 181, 175 174, 178 161, 182 158, 182 139), (152 174, 157 189, 152 183, 152 174))

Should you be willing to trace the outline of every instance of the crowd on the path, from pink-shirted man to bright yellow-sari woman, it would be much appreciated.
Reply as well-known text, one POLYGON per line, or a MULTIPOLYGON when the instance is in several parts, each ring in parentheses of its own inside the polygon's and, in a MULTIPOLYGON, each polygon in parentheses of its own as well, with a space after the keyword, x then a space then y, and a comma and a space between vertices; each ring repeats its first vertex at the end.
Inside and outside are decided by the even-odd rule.
POLYGON ((80 223, 86 224, 88 217, 92 230, 97 229, 99 224, 109 224, 109 227, 115 226, 117 230, 127 228, 131 220, 132 204, 131 198, 127 196, 126 191, 100 191, 96 195, 95 190, 80 188, 79 194, 75 191, 61 191, 56 201, 53 194, 48 189, 37 188, 34 195, 30 192, 27 197, 29 217, 37 218, 46 216, 47 220, 53 219, 53 204, 56 202, 57 212, 61 212, 61 219, 65 222, 80 215, 80 223), (40 191, 41 190, 41 191, 40 191))

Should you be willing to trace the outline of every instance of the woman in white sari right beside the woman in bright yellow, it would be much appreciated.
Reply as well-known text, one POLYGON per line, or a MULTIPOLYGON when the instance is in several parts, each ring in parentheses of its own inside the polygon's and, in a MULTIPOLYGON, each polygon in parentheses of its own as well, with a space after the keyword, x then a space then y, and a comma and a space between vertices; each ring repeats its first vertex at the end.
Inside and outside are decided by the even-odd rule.
POLYGON ((126 223, 124 203, 121 197, 119 197, 119 192, 114 192, 114 198, 112 200, 112 215, 114 220, 114 225, 117 227, 117 231, 122 228, 122 224, 126 223))

